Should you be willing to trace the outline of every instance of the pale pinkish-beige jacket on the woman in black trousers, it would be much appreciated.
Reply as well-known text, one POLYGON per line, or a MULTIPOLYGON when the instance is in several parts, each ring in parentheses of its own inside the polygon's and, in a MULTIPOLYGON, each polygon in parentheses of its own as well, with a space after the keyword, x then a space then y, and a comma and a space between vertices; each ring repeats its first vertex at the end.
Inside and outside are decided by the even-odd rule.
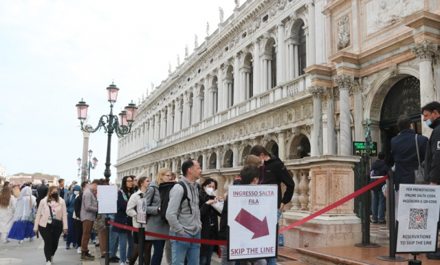
MULTIPOLYGON (((63 229, 67 229, 67 209, 66 209, 66 203, 62 198, 59 198, 60 202, 55 203, 55 209, 52 209, 52 211, 55 211, 55 218, 58 220, 63 221, 63 229)), ((39 225, 42 227, 47 226, 47 220, 49 220, 50 216, 50 209, 47 204, 51 202, 47 202, 47 199, 44 198, 44 200, 41 200, 39 205, 39 210, 36 213, 35 218, 35 224, 34 224, 34 231, 39 230, 39 225)))

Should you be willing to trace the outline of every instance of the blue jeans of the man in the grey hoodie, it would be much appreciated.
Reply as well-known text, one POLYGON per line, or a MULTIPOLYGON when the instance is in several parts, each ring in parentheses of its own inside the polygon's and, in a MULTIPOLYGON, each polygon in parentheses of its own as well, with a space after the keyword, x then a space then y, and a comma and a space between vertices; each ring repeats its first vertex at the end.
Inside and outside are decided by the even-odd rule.
MULTIPOLYGON (((170 235, 175 237, 186 237, 200 239, 200 231, 195 235, 179 235, 175 232, 170 232, 170 235)), ((173 253, 173 265, 184 265, 185 257, 188 259, 188 265, 199 265, 200 244, 183 242, 177 240, 170 240, 171 249, 173 253)))

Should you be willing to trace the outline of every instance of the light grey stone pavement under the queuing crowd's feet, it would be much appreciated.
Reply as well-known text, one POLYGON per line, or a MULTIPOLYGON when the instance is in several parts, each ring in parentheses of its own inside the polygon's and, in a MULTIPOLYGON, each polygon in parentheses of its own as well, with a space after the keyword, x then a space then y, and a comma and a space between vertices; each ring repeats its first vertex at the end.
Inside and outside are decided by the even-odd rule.
MULTIPOLYGON (((0 242, 0 264, 23 264, 23 265, 44 265, 46 260, 44 257, 44 242, 43 238, 34 238, 33 242, 28 239, 23 240, 23 244, 19 244, 18 240, 10 240, 8 243, 0 242)), ((98 238, 96 238, 98 242, 98 238)), ((58 242, 58 250, 54 256, 54 265, 104 265, 105 259, 100 258, 99 247, 89 243, 89 251, 91 255, 95 256, 93 262, 81 262, 80 254, 76 253, 75 248, 65 250, 65 241, 60 238, 58 242), (98 253, 97 253, 98 251, 98 253)), ((119 253, 118 253, 119 257, 119 253)), ((119 265, 119 263, 111 263, 119 265)), ((212 255, 212 265, 219 265, 220 259, 217 257, 217 253, 212 255)), ((162 259, 162 265, 166 265, 165 257, 162 259)))

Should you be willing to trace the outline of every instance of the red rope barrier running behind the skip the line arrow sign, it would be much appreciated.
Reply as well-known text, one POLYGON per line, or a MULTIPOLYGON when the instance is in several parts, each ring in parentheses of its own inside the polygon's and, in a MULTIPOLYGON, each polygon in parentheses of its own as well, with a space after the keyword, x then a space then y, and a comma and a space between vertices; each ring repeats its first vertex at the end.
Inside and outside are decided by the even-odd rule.
MULTIPOLYGON (((377 186, 378 184, 384 182, 385 180, 388 180, 388 175, 383 176, 382 178, 377 179, 375 182, 372 182, 368 185, 366 185, 365 187, 358 189, 358 191, 355 191, 354 193, 351 193, 350 195, 348 195, 345 198, 342 198, 341 200, 338 200, 338 202, 334 202, 333 204, 330 204, 329 206, 325 207, 324 209, 321 209, 319 211, 317 211, 316 213, 307 216, 307 218, 304 218, 302 220, 299 220, 298 222, 295 222, 294 224, 291 224, 281 230, 278 231, 278 233, 282 233, 286 230, 292 229, 295 226, 298 226, 300 224, 303 224, 311 219, 314 219, 316 217, 318 217, 319 215, 322 215, 323 213, 326 213, 327 211, 330 211, 331 209, 334 209, 338 206, 340 206, 341 204, 344 204, 345 202, 348 202, 349 200, 358 197, 359 195, 361 195, 362 193, 364 193, 365 191, 369 191, 371 188, 377 186)), ((138 229, 132 226, 126 226, 124 224, 118 224, 115 222, 111 222, 109 221, 109 224, 119 227, 121 229, 126 229, 129 231, 133 231, 133 232, 137 232, 138 229)), ((145 231, 145 235, 150 235, 153 237, 159 237, 159 238, 164 238, 167 240, 178 240, 178 241, 184 241, 184 242, 190 242, 190 243, 199 243, 199 244, 208 244, 208 245, 219 245, 219 246, 226 246, 226 241, 225 240, 198 240, 198 239, 194 239, 194 238, 186 238, 186 237, 175 237, 173 235, 164 235, 164 234, 159 234, 159 233, 153 233, 153 232, 148 232, 145 231)))

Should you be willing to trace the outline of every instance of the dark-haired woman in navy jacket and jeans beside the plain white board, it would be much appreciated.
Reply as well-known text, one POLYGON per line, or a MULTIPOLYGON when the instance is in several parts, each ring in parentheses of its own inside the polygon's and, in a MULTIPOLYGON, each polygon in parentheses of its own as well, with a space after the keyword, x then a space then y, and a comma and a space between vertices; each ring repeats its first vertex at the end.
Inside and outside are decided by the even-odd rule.
MULTIPOLYGON (((126 215, 126 206, 129 203, 131 195, 133 195, 133 179, 130 176, 122 178, 121 189, 118 191, 118 207, 115 214, 115 223, 126 226, 133 226, 133 220, 126 215)), ((121 265, 129 261, 127 257, 131 257, 133 253, 133 234, 131 231, 113 226, 113 232, 118 233, 119 252, 121 265), (127 251, 128 244, 128 251, 127 251)))

